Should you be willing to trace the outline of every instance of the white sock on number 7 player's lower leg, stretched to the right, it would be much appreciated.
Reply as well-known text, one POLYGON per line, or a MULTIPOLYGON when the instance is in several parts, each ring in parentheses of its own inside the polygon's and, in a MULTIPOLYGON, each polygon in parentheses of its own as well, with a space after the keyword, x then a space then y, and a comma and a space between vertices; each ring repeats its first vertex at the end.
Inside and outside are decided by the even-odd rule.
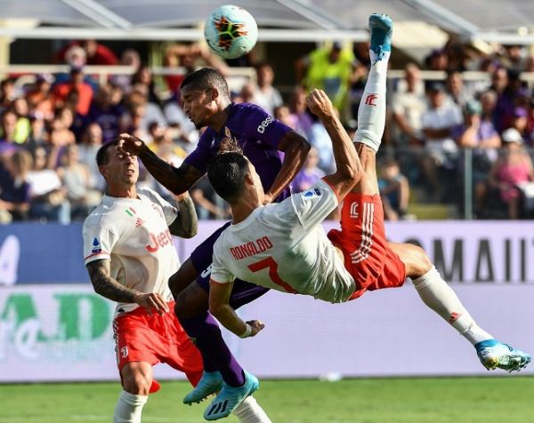
POLYGON ((473 317, 457 298, 455 291, 441 278, 440 272, 435 267, 412 282, 426 306, 441 315, 473 345, 493 338, 490 333, 483 331, 474 322, 473 317))

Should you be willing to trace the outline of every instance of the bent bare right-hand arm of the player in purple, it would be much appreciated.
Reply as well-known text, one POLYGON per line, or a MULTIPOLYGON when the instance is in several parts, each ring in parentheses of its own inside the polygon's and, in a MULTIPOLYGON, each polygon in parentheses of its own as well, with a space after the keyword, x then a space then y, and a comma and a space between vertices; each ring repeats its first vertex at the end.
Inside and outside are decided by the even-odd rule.
POLYGON ((295 178, 303 167, 311 146, 297 132, 289 131, 280 140, 278 148, 284 152, 284 163, 272 182, 271 188, 265 193, 264 204, 274 201, 280 192, 295 178))

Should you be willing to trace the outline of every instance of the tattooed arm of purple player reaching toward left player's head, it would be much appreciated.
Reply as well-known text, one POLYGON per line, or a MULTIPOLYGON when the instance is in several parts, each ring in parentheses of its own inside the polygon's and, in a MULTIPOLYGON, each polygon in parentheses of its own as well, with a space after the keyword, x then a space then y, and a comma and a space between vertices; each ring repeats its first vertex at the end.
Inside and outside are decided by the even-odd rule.
POLYGON ((118 148, 127 154, 139 156, 142 164, 158 182, 176 195, 188 191, 202 173, 190 164, 182 164, 176 168, 160 159, 147 145, 134 135, 121 133, 118 137, 118 148))

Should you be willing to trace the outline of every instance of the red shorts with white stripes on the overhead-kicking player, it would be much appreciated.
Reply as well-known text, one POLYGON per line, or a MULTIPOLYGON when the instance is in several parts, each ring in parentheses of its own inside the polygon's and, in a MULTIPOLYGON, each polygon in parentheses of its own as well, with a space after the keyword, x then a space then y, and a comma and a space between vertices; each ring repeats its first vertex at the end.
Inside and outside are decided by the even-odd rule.
POLYGON ((401 286, 406 267, 385 239, 384 209, 380 196, 350 193, 344 198, 341 231, 328 238, 343 251, 344 267, 354 278, 357 299, 365 291, 401 286))

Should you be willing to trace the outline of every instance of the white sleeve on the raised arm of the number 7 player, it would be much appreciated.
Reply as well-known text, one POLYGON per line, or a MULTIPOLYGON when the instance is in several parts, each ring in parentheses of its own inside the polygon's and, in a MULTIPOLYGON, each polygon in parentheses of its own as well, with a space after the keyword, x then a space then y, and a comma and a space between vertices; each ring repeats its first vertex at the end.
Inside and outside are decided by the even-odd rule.
POLYGON ((297 218, 306 230, 319 225, 339 204, 336 193, 324 180, 318 180, 312 188, 294 194, 287 200, 289 199, 297 218))

